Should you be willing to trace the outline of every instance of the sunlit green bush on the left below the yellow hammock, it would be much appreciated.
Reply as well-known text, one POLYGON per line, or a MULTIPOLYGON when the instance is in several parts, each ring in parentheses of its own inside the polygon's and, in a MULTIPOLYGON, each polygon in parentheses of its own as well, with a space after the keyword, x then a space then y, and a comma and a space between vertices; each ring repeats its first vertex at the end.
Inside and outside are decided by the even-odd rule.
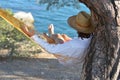
MULTIPOLYGON (((13 15, 11 10, 7 10, 13 15)), ((16 28, 0 17, 0 53, 5 56, 31 56, 35 53, 40 53, 41 49, 36 44, 29 40, 16 28), (7 50, 7 52, 5 51, 7 50)), ((0 55, 2 56, 2 55, 0 55)))

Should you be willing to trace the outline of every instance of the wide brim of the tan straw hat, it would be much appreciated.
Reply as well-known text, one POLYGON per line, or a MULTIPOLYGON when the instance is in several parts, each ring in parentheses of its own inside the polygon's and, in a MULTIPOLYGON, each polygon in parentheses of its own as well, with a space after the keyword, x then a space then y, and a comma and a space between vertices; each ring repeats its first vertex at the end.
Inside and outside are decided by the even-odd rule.
POLYGON ((80 26, 76 23, 76 15, 75 16, 71 16, 68 18, 68 24, 74 28, 75 30, 77 30, 78 32, 82 32, 82 33, 92 33, 94 31, 94 26, 90 23, 89 27, 84 27, 84 26, 80 26))

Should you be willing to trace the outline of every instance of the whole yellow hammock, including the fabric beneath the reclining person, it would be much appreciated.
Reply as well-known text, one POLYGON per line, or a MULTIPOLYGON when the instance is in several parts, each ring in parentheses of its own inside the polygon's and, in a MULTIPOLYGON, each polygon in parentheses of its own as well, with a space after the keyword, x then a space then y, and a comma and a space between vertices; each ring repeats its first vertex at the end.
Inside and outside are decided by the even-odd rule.
MULTIPOLYGON (((27 34, 25 34, 20 27, 22 27, 23 25, 25 25, 23 22, 21 22, 20 20, 16 19, 15 17, 13 17, 12 15, 10 15, 7 11, 3 10, 0 8, 0 17, 2 17, 4 20, 6 20, 8 23, 10 23, 13 27, 15 27, 18 31, 20 31, 21 33, 23 33, 28 39, 30 39, 32 42, 36 43, 34 40, 32 40, 27 34)), ((37 43, 36 43, 37 44, 37 43)), ((40 45, 39 45, 40 46, 40 45)), ((41 47, 41 46, 40 46, 41 47)), ((41 50, 48 53, 43 47, 41 47, 41 50)), ((63 62, 73 59, 73 60, 77 60, 77 58, 73 58, 73 57, 67 57, 64 55, 58 55, 58 54, 54 54, 55 57, 61 57, 63 58, 63 62)))

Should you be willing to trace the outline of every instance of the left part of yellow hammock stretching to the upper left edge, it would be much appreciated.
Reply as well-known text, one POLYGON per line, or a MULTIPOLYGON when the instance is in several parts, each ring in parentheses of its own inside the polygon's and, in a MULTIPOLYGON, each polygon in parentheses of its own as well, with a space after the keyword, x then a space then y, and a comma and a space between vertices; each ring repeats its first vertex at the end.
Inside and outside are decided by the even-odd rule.
MULTIPOLYGON (((6 20, 9 24, 11 24, 13 27, 15 27, 18 31, 20 31, 21 33, 23 33, 28 39, 30 39, 32 42, 34 42, 34 40, 32 40, 27 34, 25 34, 20 27, 24 26, 25 24, 23 22, 21 22, 20 20, 16 19, 15 17, 13 17, 12 15, 10 15, 7 11, 3 10, 0 8, 0 17, 2 17, 4 20, 6 20)), ((36 43, 36 42, 34 42, 36 43)), ((40 46, 40 45, 39 45, 40 46)), ((40 46, 41 47, 41 46, 40 46)), ((42 47, 41 47, 42 51, 45 51, 42 47)), ((47 52, 47 51, 45 51, 47 52)))

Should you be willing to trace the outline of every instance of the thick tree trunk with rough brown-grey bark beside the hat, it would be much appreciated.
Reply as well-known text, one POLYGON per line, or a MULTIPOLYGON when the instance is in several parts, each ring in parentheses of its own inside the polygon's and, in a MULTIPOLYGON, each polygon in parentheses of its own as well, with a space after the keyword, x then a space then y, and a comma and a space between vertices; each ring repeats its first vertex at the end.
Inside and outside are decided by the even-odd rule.
POLYGON ((120 72, 120 1, 79 1, 91 10, 96 27, 81 80, 117 80, 120 72))

